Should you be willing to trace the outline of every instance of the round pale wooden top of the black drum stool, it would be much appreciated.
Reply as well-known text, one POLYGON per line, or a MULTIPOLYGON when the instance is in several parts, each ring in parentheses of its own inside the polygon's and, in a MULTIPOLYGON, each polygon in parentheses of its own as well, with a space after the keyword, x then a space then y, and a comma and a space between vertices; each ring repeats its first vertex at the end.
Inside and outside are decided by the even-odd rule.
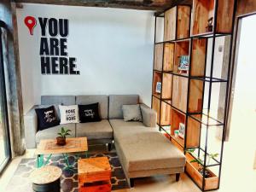
POLYGON ((61 177, 61 168, 57 166, 43 166, 30 174, 30 180, 36 184, 53 183, 61 177))

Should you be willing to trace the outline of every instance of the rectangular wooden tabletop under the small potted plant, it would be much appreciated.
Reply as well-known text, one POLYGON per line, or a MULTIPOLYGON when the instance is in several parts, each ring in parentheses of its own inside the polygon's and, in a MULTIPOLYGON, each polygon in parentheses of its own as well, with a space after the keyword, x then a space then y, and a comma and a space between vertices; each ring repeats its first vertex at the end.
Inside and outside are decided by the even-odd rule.
POLYGON ((35 154, 67 154, 88 151, 87 137, 66 138, 66 145, 59 146, 56 139, 43 139, 35 154))

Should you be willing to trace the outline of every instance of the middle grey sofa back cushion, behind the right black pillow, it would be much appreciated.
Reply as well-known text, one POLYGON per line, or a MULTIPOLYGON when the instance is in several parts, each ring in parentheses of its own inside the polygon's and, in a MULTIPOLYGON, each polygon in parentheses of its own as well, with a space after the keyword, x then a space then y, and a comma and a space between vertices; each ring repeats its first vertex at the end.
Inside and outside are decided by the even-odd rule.
POLYGON ((88 105, 92 103, 99 103, 99 114, 102 119, 108 119, 108 96, 95 95, 95 96, 77 96, 77 105, 88 105))

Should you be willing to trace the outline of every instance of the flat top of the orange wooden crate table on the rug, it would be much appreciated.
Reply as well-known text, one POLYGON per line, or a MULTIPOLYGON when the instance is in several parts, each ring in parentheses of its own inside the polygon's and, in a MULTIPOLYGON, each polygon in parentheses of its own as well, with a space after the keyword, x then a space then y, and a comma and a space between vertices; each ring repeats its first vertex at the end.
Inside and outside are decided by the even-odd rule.
POLYGON ((111 172, 108 157, 95 157, 78 160, 78 173, 111 172))

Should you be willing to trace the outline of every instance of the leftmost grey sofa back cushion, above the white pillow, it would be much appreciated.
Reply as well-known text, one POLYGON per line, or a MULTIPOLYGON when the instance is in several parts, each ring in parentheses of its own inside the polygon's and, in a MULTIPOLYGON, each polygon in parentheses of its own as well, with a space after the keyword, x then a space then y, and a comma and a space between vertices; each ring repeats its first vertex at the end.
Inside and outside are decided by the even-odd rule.
POLYGON ((75 105, 76 96, 41 96, 41 105, 75 105))

